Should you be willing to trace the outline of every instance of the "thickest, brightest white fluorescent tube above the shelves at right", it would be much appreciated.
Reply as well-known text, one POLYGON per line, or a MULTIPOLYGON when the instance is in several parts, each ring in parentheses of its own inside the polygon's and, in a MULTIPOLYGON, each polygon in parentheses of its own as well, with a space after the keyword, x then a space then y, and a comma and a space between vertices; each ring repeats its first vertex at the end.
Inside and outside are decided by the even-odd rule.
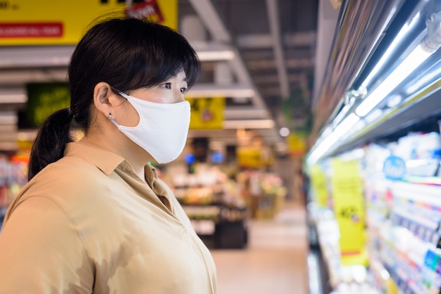
POLYGON ((421 44, 400 63, 397 68, 375 89, 368 94, 364 101, 356 108, 355 113, 361 117, 367 115, 375 106, 390 94, 418 65, 430 56, 430 52, 425 50, 421 44))

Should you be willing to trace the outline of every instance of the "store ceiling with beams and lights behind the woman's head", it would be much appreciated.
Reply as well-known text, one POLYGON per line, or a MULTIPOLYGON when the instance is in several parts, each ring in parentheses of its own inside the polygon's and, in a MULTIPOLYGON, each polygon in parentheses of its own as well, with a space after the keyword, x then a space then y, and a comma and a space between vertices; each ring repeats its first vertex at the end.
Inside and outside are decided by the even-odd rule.
MULTIPOLYGON (((227 98, 224 129, 192 130, 190 136, 234 144, 240 129, 276 144, 283 141, 279 127, 310 126, 318 0, 178 0, 178 13, 179 30, 197 51, 234 53, 232 59, 201 60, 201 79, 189 93, 227 98)), ((72 50, 0 46, 1 142, 14 141, 14 134, 6 132, 14 120, 8 111, 24 106, 23 85, 63 81, 72 50)))

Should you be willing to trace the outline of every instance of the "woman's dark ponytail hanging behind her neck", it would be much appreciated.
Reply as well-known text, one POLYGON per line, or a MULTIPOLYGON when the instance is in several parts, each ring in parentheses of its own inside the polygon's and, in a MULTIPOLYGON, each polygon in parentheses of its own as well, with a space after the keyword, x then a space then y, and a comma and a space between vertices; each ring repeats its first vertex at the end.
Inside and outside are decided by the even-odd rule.
POLYGON ((56 162, 64 155, 66 143, 72 142, 70 123, 73 113, 63 108, 52 113, 39 129, 30 153, 27 180, 29 181, 46 165, 56 162))

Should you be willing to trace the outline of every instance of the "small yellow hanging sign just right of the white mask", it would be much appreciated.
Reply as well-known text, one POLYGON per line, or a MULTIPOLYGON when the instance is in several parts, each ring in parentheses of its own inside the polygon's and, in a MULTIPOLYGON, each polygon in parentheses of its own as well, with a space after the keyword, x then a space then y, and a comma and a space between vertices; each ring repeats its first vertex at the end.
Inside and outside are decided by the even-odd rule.
POLYGON ((185 98, 190 102, 190 129, 222 129, 225 98, 185 98))

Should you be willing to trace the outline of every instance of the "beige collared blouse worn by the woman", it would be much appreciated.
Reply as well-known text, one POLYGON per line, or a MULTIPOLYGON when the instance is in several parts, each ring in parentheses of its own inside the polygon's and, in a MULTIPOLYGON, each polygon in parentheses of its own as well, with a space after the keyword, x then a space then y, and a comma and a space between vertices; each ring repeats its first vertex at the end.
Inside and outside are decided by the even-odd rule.
POLYGON ((215 294, 209 250, 154 167, 69 143, 15 198, 0 293, 215 294))

